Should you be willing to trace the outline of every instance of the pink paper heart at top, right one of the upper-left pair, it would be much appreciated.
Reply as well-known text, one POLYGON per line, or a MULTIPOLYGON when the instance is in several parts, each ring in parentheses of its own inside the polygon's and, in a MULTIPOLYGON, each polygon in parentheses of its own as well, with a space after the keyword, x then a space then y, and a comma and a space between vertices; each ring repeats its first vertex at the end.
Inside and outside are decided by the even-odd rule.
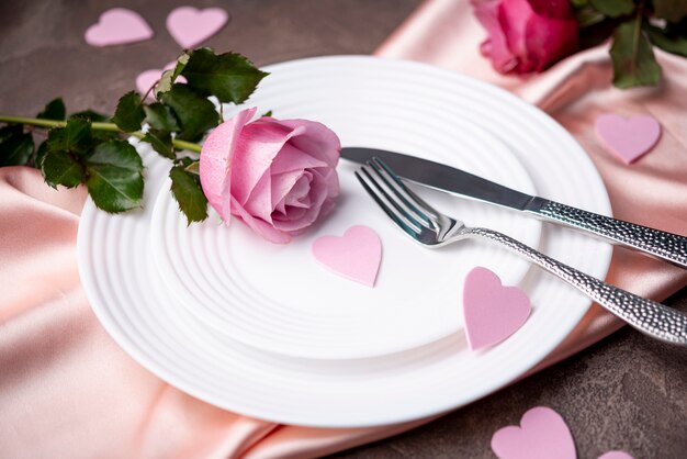
POLYGON ((182 48, 192 48, 217 33, 229 15, 221 8, 179 7, 167 15, 167 30, 182 48))

